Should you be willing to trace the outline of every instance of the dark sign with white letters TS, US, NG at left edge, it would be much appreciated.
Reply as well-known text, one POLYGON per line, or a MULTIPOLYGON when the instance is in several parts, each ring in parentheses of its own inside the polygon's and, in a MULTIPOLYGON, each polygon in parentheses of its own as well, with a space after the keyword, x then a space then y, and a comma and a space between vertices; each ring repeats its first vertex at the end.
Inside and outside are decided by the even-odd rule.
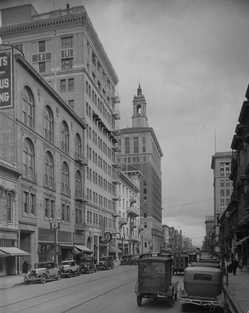
POLYGON ((0 109, 12 107, 12 50, 0 51, 0 109))

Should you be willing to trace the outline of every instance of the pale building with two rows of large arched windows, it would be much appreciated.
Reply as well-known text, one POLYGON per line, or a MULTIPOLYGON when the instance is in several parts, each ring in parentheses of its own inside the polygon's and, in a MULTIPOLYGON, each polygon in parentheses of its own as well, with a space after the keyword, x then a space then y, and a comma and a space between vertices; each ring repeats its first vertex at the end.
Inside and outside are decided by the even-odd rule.
POLYGON ((0 157, 16 164, 13 172, 21 174, 18 186, 12 182, 6 195, 11 200, 7 226, 18 229, 19 238, 12 237, 18 241, 15 246, 28 252, 33 264, 52 260, 54 235, 49 221, 52 218, 56 223, 61 217, 58 259, 70 258, 73 244, 84 243, 84 206, 75 193, 82 194, 83 188, 86 126, 19 50, 6 45, 0 49, 1 60, 6 59, 6 65, 1 64, 6 84, 0 95, 4 94, 0 106, 4 149, 0 157))

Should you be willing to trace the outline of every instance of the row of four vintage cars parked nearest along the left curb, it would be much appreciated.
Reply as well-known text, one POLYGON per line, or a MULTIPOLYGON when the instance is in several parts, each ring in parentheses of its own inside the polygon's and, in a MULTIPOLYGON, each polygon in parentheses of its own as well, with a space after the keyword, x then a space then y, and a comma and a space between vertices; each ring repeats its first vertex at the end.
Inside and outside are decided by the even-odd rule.
POLYGON ((58 267, 54 262, 39 262, 35 264, 34 269, 25 274, 24 282, 26 285, 37 281, 44 284, 46 280, 60 280, 61 277, 71 278, 72 275, 90 274, 99 269, 113 269, 113 266, 112 256, 99 257, 98 263, 94 261, 93 256, 81 257, 79 264, 75 260, 67 260, 62 261, 58 267))

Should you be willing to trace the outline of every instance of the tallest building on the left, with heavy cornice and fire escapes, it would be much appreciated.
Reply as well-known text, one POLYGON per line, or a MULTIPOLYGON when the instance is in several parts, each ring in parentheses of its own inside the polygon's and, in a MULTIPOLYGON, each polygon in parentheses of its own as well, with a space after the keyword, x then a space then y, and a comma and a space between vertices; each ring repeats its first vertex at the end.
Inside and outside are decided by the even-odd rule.
MULTIPOLYGON (((65 101, 73 113, 84 121, 84 125, 86 124, 86 132, 80 135, 81 139, 84 136, 82 153, 86 157, 80 172, 82 190, 77 188, 71 190, 70 200, 73 198, 74 202, 75 199, 78 208, 83 207, 82 214, 85 213, 84 227, 79 229, 81 236, 77 237, 77 242, 86 245, 97 257, 99 247, 107 247, 107 242, 103 243, 101 240, 103 229, 106 232, 113 232, 112 245, 117 246, 114 232, 117 228, 118 200, 113 198, 113 193, 116 192, 118 166, 115 156, 117 152, 115 136, 118 134, 120 119, 118 107, 120 99, 115 93, 117 74, 83 6, 70 8, 67 5, 65 9, 42 14, 38 14, 31 4, 5 8, 1 11, 2 43, 21 50, 32 68, 56 91, 58 96, 55 98, 59 97, 61 101, 65 101)), ((35 97, 41 98, 41 92, 35 97)), ((57 105, 53 117, 59 118, 61 112, 57 105)), ((49 112, 47 114, 50 116, 49 112)), ((77 122, 71 119, 65 125, 62 124, 62 129, 65 132, 75 132, 77 123, 81 121, 79 118, 76 118, 77 122)), ((65 136, 61 139, 62 147, 66 146, 65 136)), ((68 144, 74 144, 74 135, 70 137, 68 144)), ((51 154, 53 156, 53 152, 51 154)), ((51 158, 47 158, 49 162, 51 158)), ((82 163, 78 163, 82 166, 82 163)), ((70 163, 70 166, 72 164, 74 163, 70 163)), ((79 178, 77 176, 75 179, 79 178)), ((30 195, 32 188, 28 189, 27 193, 30 195)), ((63 198, 64 203, 61 204, 67 209, 69 202, 67 195, 64 197, 63 193, 62 197, 59 194, 56 196, 59 198, 56 199, 49 196, 50 193, 48 198, 44 197, 37 205, 42 207, 48 203, 52 205, 52 201, 61 202, 63 198)), ((21 207, 24 205, 19 204, 21 207)), ((76 213, 80 221, 80 213, 76 213)), ((41 223, 41 227, 44 227, 44 216, 39 218, 38 224, 41 223)), ((32 227, 34 225, 30 226, 32 227)), ((24 237, 21 238, 21 242, 25 241, 24 237)))

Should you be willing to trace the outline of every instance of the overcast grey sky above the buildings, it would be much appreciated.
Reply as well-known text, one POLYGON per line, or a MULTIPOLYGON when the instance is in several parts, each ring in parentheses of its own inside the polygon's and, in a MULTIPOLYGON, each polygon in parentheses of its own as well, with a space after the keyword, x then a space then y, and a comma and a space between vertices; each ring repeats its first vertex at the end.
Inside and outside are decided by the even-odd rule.
POLYGON ((212 155, 232 151, 249 83, 247 0, 0 0, 38 13, 84 5, 119 83, 120 128, 140 81, 163 152, 162 223, 201 245, 214 212, 212 155))

